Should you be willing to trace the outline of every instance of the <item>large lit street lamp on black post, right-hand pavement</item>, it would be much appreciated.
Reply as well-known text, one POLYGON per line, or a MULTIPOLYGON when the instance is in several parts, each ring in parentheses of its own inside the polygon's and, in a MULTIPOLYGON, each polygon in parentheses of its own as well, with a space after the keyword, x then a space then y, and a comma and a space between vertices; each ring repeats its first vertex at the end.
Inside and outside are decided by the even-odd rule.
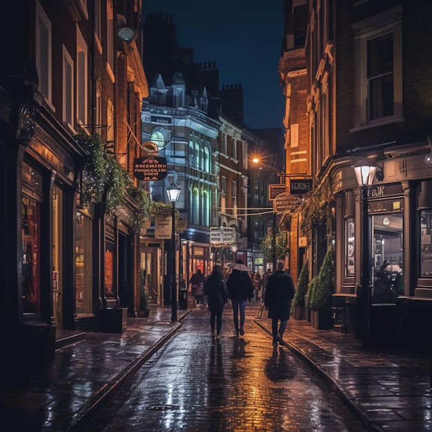
POLYGON ((357 289, 357 301, 360 301, 362 313, 362 346, 367 348, 371 342, 371 242, 369 235, 368 191, 375 175, 375 166, 360 165, 354 167, 355 177, 362 189, 363 200, 363 233, 362 233, 362 285, 357 289))

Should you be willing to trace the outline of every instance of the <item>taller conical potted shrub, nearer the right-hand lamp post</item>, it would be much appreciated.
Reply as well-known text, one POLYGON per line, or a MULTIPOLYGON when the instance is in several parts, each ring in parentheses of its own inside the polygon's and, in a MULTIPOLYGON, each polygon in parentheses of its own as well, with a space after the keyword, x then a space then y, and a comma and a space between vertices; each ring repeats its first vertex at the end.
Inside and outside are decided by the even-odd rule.
POLYGON ((324 330, 332 327, 331 296, 334 292, 333 251, 332 248, 328 248, 309 296, 309 304, 314 315, 312 325, 315 328, 324 330))

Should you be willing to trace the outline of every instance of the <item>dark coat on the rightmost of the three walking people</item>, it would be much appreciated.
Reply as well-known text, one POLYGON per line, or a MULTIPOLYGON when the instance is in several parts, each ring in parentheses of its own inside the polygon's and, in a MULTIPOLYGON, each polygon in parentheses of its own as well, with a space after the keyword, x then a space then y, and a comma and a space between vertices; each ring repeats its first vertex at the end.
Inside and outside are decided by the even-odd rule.
POLYGON ((268 277, 265 306, 268 317, 277 320, 289 320, 291 300, 295 294, 293 278, 283 270, 277 270, 268 277))

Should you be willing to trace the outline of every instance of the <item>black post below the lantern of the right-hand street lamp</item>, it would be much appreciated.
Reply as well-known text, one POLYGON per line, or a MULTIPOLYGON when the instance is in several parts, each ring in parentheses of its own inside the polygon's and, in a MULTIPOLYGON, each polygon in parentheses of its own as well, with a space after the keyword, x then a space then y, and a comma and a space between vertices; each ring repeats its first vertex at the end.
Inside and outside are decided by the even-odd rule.
POLYGON ((363 265, 362 265, 362 297, 363 297, 363 331, 362 346, 367 348, 370 344, 370 318, 371 318, 371 244, 369 241, 369 206, 368 206, 368 186, 362 186, 363 197, 363 265))

